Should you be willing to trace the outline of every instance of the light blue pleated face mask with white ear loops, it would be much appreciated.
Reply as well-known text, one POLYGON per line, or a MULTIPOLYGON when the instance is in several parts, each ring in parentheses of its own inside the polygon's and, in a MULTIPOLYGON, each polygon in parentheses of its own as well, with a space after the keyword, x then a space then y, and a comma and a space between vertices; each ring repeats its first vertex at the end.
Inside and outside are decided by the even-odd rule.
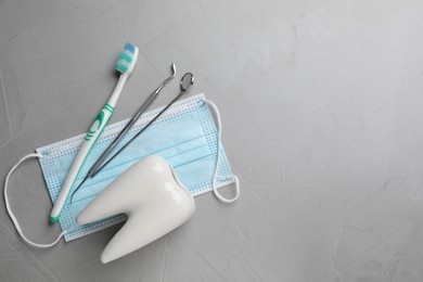
MULTIPOLYGON (((157 108, 144 114, 120 144, 125 144, 137 134, 159 111, 161 108, 157 108)), ((73 189, 79 184, 91 165, 119 133, 127 121, 124 120, 110 125, 104 129, 103 134, 97 141, 95 146, 91 150, 79 171, 73 189)), ((118 215, 87 226, 79 226, 76 222, 76 217, 90 201, 132 164, 154 154, 162 156, 174 167, 181 182, 190 190, 193 196, 213 190, 215 195, 223 203, 234 202, 240 195, 240 187, 236 176, 232 175, 220 142, 220 128, 219 112, 214 103, 205 99, 204 94, 194 95, 175 103, 149 129, 103 168, 101 172, 94 178, 87 180, 78 192, 75 193, 72 203, 70 196, 67 197, 59 218, 64 231, 55 242, 48 245, 35 244, 28 241, 22 233, 13 213, 10 210, 7 197, 9 178, 22 162, 30 157, 39 157, 46 184, 54 203, 85 134, 39 148, 36 150, 37 154, 30 154, 21 159, 7 177, 4 198, 8 213, 23 240, 36 247, 52 246, 60 241, 62 235, 64 235, 67 242, 121 222, 126 219, 125 215, 118 215), (217 127, 209 108, 215 112, 217 127), (235 184, 235 196, 232 200, 227 200, 219 194, 217 189, 232 183, 235 184)))

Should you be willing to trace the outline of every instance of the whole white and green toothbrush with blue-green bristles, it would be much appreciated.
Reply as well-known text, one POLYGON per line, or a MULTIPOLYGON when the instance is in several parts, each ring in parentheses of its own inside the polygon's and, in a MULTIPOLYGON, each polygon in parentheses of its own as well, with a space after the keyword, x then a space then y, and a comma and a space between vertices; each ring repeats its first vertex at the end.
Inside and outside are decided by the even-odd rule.
POLYGON ((97 139, 100 137, 105 125, 111 118, 113 111, 115 110, 117 100, 119 99, 121 90, 125 86, 125 82, 133 72, 138 59, 138 53, 139 50, 136 46, 126 43, 124 51, 119 54, 119 57, 115 64, 115 68, 117 72, 120 73, 120 76, 115 87, 115 90, 113 91, 107 103, 104 105, 103 110, 100 112, 95 120, 92 123, 91 127, 88 129, 88 132, 85 137, 85 141, 82 141, 82 144, 78 151, 77 156, 75 157, 70 170, 67 174, 65 181, 63 182, 62 190, 56 201, 54 202, 54 206, 53 209, 51 210, 50 219, 49 219, 51 223, 57 221, 63 205, 67 196, 69 195, 70 189, 76 180, 76 177, 79 174, 80 168, 84 165, 84 162, 86 161, 88 154, 90 153, 90 150, 94 145, 97 139))

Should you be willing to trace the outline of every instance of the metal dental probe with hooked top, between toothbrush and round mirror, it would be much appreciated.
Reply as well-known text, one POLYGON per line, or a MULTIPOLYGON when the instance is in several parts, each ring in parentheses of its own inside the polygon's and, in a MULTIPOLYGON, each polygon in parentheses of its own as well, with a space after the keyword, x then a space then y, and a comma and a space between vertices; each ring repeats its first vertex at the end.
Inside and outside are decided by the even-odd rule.
MULTIPOLYGON (((103 164, 104 159, 108 156, 108 154, 112 152, 113 149, 119 143, 119 141, 124 138, 124 136, 131 129, 134 123, 140 118, 140 116, 145 112, 145 110, 153 103, 153 101, 157 98, 158 93, 163 89, 163 87, 176 76, 176 65, 171 64, 171 75, 167 77, 162 85, 157 87, 156 90, 154 90, 153 93, 150 94, 150 97, 146 99, 146 101, 141 105, 141 107, 138 110, 138 112, 132 116, 132 118, 129 120, 129 123, 124 127, 124 129, 119 132, 119 134, 113 140, 113 142, 107 146, 107 149, 103 152, 103 154, 97 159, 95 164, 92 165, 90 170, 88 171, 88 177, 94 176, 95 171, 99 169, 99 167, 103 164)), ((76 192, 76 190, 75 190, 76 192)))

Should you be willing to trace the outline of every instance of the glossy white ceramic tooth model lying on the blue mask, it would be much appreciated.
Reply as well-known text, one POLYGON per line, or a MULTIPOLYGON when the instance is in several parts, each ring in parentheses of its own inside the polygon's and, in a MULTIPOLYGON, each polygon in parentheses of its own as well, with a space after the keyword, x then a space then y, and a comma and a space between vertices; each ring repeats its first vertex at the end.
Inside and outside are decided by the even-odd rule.
POLYGON ((87 225, 117 214, 128 215, 101 255, 101 261, 106 264, 167 234, 194 210, 194 198, 172 167, 159 156, 149 156, 105 188, 77 221, 87 225))

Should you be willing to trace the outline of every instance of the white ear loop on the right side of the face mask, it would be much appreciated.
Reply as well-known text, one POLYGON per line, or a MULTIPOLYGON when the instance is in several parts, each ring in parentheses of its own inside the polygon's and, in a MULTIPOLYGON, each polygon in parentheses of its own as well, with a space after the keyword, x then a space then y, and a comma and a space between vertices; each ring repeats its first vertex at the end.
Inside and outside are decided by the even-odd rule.
POLYGON ((222 196, 219 191, 217 191, 216 188, 216 176, 217 170, 219 168, 219 162, 220 162, 220 140, 221 140, 221 120, 220 120, 220 113, 217 108, 216 104, 211 101, 205 100, 207 105, 213 108, 213 111, 216 114, 216 121, 217 121, 217 159, 216 159, 216 167, 215 172, 213 174, 213 192, 215 193, 216 197, 219 198, 222 203, 230 204, 235 202, 240 197, 240 180, 235 175, 232 175, 234 181, 235 181, 235 196, 233 198, 226 198, 222 196))

